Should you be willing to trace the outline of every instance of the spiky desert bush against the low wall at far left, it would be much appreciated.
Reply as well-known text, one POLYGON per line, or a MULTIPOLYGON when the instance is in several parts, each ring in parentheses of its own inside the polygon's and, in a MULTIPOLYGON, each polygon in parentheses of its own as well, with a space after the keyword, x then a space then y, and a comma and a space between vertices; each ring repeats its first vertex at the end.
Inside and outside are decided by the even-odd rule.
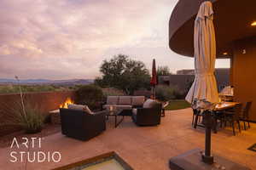
POLYGON ((38 133, 44 127, 44 114, 37 106, 25 99, 23 105, 21 101, 14 101, 13 105, 5 105, 5 120, 1 126, 10 125, 21 127, 26 133, 38 133))

